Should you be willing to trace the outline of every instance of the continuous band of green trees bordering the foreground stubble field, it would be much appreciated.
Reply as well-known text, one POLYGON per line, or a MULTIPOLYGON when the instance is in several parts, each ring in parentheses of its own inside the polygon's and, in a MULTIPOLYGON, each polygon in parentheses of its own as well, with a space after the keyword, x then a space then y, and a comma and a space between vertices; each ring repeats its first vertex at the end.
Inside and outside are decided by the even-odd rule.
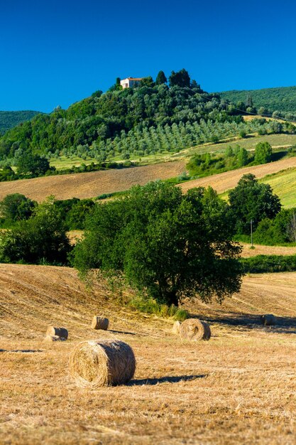
POLYGON ((221 302, 239 290, 244 269, 235 239, 249 235, 250 220, 255 233, 296 237, 295 213, 281 210, 270 186, 252 174, 229 193, 229 203, 212 188, 182 194, 156 181, 106 203, 50 197, 37 204, 13 194, 0 212, 9 227, 0 234, 1 262, 71 264, 82 276, 99 268, 176 306, 184 295, 221 302), (69 228, 84 229, 75 246, 69 228))

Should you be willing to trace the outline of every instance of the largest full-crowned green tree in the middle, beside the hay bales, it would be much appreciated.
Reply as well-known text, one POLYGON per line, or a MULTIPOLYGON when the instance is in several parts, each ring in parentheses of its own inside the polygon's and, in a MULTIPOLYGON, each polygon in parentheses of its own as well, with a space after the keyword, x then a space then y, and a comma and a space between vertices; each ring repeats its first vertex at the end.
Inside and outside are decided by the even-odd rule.
POLYGON ((241 248, 231 241, 231 227, 227 204, 212 189, 183 195, 168 183, 136 186, 94 210, 74 265, 84 274, 123 272, 165 304, 196 294, 221 302, 241 284, 241 248))

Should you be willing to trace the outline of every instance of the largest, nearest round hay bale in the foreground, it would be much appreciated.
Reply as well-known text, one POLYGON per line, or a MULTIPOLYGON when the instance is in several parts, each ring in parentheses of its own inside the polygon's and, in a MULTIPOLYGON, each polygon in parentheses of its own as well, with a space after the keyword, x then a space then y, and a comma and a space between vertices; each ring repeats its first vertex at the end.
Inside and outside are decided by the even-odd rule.
POLYGON ((78 385, 122 385, 133 377, 136 359, 123 341, 82 341, 72 350, 69 368, 78 385))

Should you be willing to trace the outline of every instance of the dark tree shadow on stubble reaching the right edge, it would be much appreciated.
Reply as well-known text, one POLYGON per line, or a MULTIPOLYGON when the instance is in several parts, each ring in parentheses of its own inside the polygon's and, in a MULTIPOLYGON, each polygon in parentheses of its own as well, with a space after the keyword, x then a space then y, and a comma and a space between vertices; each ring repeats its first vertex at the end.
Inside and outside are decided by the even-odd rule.
MULTIPOLYGON (((195 318, 195 317, 193 317, 195 318)), ((268 331, 276 333, 296 333, 295 317, 278 317, 275 316, 274 326, 263 326, 261 315, 253 315, 251 313, 242 313, 238 315, 235 312, 229 313, 227 316, 207 316, 204 318, 209 323, 219 323, 225 326, 236 326, 244 329, 264 328, 268 331)))

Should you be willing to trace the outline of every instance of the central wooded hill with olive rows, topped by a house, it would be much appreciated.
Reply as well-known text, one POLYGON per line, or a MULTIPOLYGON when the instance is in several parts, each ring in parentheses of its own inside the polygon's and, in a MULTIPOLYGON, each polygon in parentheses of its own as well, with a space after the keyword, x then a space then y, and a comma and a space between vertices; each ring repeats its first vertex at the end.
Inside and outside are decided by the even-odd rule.
MULTIPOLYGON (((244 109, 256 112, 255 107, 244 109)), ((2 166, 14 165, 18 171, 40 176, 47 173, 49 164, 42 161, 40 167, 36 156, 48 160, 61 155, 90 156, 98 163, 121 159, 128 163, 128 159, 175 153, 238 134, 283 130, 278 122, 265 119, 243 122, 241 114, 219 95, 204 92, 184 69, 172 71, 168 81, 160 71, 155 82, 146 77, 125 90, 117 79, 104 94, 94 92, 67 110, 57 107, 6 132, 0 139, 0 161, 2 166), (31 166, 32 160, 38 168, 31 166)))

